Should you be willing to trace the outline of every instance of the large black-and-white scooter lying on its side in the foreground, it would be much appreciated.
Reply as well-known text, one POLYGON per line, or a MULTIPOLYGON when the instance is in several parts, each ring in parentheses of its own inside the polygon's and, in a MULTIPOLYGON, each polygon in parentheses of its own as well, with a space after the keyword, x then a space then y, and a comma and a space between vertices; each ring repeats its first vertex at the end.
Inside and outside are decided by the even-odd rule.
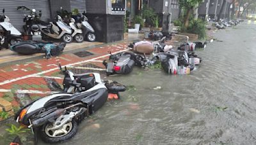
POLYGON ((125 91, 124 85, 116 83, 107 87, 98 73, 73 74, 66 67, 62 72, 65 74, 63 92, 35 100, 15 114, 17 122, 31 128, 35 137, 40 133, 48 143, 74 137, 77 125, 104 105, 109 92, 125 91))

